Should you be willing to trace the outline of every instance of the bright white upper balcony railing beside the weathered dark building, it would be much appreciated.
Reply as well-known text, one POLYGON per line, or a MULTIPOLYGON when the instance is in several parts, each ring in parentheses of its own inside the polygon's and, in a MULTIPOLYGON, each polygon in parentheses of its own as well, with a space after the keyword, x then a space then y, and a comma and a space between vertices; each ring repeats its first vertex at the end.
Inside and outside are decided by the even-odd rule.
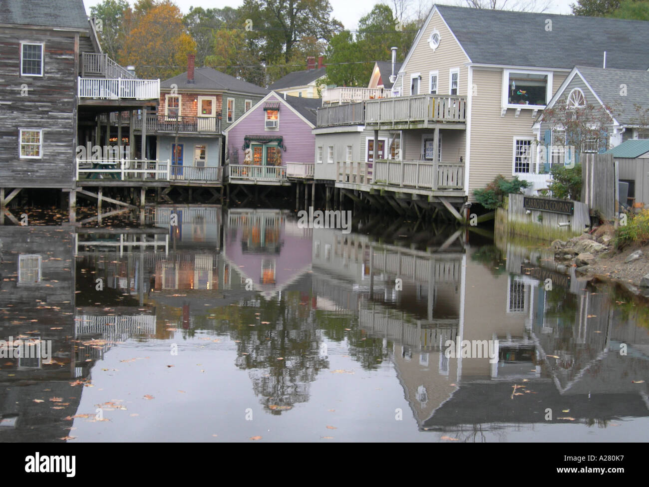
POLYGON ((160 98, 160 80, 79 77, 77 96, 103 100, 157 100, 160 98))

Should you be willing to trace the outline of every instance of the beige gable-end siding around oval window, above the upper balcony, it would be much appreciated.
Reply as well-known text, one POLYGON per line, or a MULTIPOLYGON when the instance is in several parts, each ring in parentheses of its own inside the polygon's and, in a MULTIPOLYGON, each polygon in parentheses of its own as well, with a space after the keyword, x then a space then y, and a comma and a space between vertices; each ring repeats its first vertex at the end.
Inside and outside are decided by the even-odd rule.
POLYGON ((421 74, 419 93, 430 93, 428 86, 429 73, 430 71, 437 70, 439 71, 437 77, 437 93, 449 95, 449 70, 459 68, 459 89, 457 94, 466 96, 468 93, 467 81, 469 79, 469 71, 467 66, 465 66, 467 62, 469 62, 469 58, 464 54, 459 43, 455 40, 439 13, 435 12, 428 26, 426 26, 419 43, 411 53, 408 63, 402 67, 406 74, 404 76, 404 89, 401 94, 411 95, 410 76, 413 73, 421 74), (435 51, 428 45, 428 38, 433 29, 437 29, 440 36, 439 47, 435 51))

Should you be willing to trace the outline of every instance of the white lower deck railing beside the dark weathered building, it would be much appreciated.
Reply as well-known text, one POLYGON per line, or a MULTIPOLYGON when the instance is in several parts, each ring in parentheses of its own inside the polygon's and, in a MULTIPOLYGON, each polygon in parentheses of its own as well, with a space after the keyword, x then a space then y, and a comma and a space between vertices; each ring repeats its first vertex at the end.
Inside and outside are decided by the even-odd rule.
POLYGON ((75 159, 77 181, 80 180, 167 180, 169 160, 83 160, 75 159), (82 176, 83 174, 83 176, 82 176))

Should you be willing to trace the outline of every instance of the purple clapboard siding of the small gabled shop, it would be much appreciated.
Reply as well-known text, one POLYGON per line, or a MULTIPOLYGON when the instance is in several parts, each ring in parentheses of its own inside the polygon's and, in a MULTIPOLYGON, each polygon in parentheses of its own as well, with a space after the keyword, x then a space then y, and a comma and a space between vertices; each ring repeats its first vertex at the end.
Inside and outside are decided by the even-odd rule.
MULTIPOLYGON (((271 97, 269 102, 275 102, 271 97)), ((236 108, 236 107, 235 107, 236 108)), ((315 136, 311 133, 312 127, 295 114, 284 102, 280 102, 279 126, 277 130, 265 130, 265 112, 263 106, 258 106, 253 113, 232 127, 227 132, 227 150, 230 154, 230 163, 233 154, 238 154, 238 163, 243 164, 243 137, 245 136, 282 136, 286 150, 282 150, 282 166, 288 162, 313 162, 315 154, 315 136)))

